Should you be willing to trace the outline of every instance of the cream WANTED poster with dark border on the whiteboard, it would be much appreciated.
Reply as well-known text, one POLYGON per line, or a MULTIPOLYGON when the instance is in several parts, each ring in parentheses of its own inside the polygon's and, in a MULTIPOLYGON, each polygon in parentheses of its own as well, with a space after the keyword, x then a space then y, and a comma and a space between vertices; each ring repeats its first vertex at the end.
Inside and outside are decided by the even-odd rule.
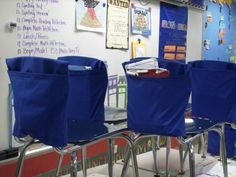
POLYGON ((108 1, 106 48, 129 48, 129 3, 129 0, 108 1))

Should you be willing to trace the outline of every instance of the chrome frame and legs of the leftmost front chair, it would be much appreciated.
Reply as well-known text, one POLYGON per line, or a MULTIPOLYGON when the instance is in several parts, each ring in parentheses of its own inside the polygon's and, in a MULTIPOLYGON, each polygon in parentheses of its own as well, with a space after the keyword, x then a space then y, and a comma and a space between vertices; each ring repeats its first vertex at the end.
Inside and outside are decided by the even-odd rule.
MULTIPOLYGON (((124 130, 124 132, 127 132, 127 129, 124 130)), ((113 177, 113 139, 115 138, 121 138, 124 139, 130 148, 130 153, 132 156, 132 164, 133 164, 133 176, 134 177, 139 177, 138 174, 138 168, 137 168, 137 159, 136 159, 136 151, 134 151, 134 144, 132 139, 126 135, 122 131, 114 132, 112 135, 109 135, 108 137, 102 137, 98 138, 94 141, 91 141, 89 143, 86 143, 84 145, 72 145, 68 148, 54 148, 54 150, 59 153, 59 158, 57 160, 57 168, 56 168, 56 176, 60 176, 60 167, 62 165, 62 160, 65 154, 71 154, 71 177, 76 177, 77 176, 77 151, 82 150, 82 172, 83 172, 83 177, 87 177, 87 168, 86 168, 86 147, 89 145, 92 145, 94 143, 97 143, 102 140, 108 140, 108 147, 109 147, 109 152, 108 152, 108 172, 109 172, 109 177, 113 177)), ((25 158, 25 153, 28 147, 30 147, 33 144, 40 143, 39 141, 35 141, 34 139, 18 139, 17 141, 20 143, 24 143, 24 146, 20 149, 19 152, 19 160, 17 164, 17 170, 16 170, 16 177, 20 177, 22 173, 22 168, 23 168, 23 163, 24 163, 24 158, 25 158)))

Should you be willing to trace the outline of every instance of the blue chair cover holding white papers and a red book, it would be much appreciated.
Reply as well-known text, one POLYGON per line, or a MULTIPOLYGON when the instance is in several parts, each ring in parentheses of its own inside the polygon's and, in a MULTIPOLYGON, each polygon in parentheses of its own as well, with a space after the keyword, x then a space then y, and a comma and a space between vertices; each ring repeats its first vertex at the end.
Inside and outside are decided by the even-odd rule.
MULTIPOLYGON (((125 66, 147 58, 123 63, 125 66)), ((190 95, 188 67, 158 59, 159 67, 170 71, 168 78, 128 75, 128 127, 144 134, 185 135, 184 112, 190 95)))

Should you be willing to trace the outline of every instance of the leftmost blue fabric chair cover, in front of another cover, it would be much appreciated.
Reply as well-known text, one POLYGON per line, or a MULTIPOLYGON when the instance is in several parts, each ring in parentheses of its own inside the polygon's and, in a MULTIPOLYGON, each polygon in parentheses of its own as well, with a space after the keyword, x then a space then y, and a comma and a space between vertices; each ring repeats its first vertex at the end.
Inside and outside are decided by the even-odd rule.
POLYGON ((66 146, 67 63, 39 57, 12 58, 6 63, 14 94, 13 135, 66 146))

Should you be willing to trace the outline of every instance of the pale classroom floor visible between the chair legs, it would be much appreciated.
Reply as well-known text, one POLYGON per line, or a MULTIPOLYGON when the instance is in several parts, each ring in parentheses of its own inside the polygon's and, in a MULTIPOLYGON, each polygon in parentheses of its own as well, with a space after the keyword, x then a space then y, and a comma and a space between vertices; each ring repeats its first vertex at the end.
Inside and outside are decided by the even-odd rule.
MULTIPOLYGON (((164 173, 165 169, 165 148, 161 148, 157 151, 158 156, 158 168, 161 173, 164 173)), ((187 157, 188 158, 188 157, 187 157)), ((195 156, 196 160, 196 177, 223 177, 223 170, 221 162, 217 160, 216 157, 207 156, 207 158, 202 159, 200 155, 195 156)), ((141 155, 138 155, 138 164, 139 164, 139 176, 140 177, 154 177, 152 172, 153 167, 153 157, 151 152, 147 152, 141 155)), ((189 168, 188 160, 185 162, 185 174, 176 175, 179 169, 179 153, 177 150, 171 150, 170 156, 170 169, 171 176, 178 177, 189 177, 189 168)), ((118 162, 114 165, 114 177, 119 177, 122 170, 122 163, 118 162)), ((107 165, 102 165, 99 167, 88 169, 88 177, 108 177, 107 165)), ((229 177, 236 177, 236 161, 228 160, 228 174, 229 177)), ((69 177, 66 175, 64 177, 69 177)), ((78 173, 78 176, 82 176, 81 173, 78 173)), ((164 175, 163 175, 164 176, 164 175)), ((129 168, 127 177, 133 177, 132 169, 129 168)))

